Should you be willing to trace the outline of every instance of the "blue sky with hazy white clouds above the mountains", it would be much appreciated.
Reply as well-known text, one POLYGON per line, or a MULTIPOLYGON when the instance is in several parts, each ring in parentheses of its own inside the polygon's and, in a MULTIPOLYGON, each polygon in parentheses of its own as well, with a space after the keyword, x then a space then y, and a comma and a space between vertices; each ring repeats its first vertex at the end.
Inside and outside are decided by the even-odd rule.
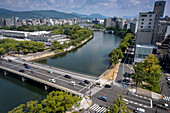
MULTIPOLYGON (((15 11, 56 10, 79 14, 99 13, 104 16, 136 16, 153 11, 157 0, 0 0, 0 8, 15 11)), ((170 0, 165 0, 164 15, 170 16, 170 0)))

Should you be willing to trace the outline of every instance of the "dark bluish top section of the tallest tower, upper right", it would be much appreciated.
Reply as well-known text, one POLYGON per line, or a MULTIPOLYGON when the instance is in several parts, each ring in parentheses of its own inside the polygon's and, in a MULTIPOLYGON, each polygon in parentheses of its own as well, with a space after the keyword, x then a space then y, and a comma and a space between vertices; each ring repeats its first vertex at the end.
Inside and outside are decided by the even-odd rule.
POLYGON ((160 17, 164 15, 166 1, 156 1, 154 5, 154 13, 158 13, 160 17))

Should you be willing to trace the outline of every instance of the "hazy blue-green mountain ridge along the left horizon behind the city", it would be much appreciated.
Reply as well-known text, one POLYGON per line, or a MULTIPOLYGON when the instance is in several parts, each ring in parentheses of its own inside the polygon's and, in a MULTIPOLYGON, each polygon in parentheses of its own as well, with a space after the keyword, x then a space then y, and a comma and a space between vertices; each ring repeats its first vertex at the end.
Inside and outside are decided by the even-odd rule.
POLYGON ((79 19, 104 19, 109 18, 101 14, 91 14, 83 15, 78 13, 64 13, 55 10, 33 10, 33 11, 12 11, 8 9, 0 8, 0 17, 2 18, 11 18, 12 16, 19 17, 21 19, 29 18, 52 18, 52 19, 67 19, 67 18, 79 18, 79 19))

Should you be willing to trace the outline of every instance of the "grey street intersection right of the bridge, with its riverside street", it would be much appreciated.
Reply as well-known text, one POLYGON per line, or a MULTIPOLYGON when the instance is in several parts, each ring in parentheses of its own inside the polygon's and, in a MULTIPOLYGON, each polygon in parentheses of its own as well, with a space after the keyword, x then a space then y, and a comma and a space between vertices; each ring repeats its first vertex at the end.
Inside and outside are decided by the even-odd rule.
POLYGON ((168 111, 166 110, 160 108, 156 109, 155 106, 153 106, 153 104, 168 103, 170 105, 169 102, 165 100, 153 100, 142 96, 136 96, 135 94, 132 94, 130 92, 127 95, 128 89, 122 87, 122 83, 120 83, 120 81, 124 79, 123 75, 125 74, 125 72, 127 73, 133 72, 133 70, 130 67, 132 67, 132 61, 134 58, 134 52, 133 52, 134 48, 135 48, 134 43, 132 43, 132 45, 129 46, 127 52, 124 54, 125 57, 122 59, 119 65, 118 74, 115 80, 116 84, 118 85, 112 85, 111 88, 102 88, 100 91, 95 93, 92 96, 93 104, 88 109, 89 112, 94 113, 95 111, 97 112, 105 111, 109 106, 113 105, 113 102, 117 98, 118 93, 121 92, 121 94, 124 95, 124 98, 128 100, 127 107, 131 111, 133 111, 136 108, 143 108, 145 109, 146 113, 156 113, 156 112, 168 113, 168 111), (106 96, 108 98, 108 102, 99 100, 98 99, 99 96, 106 96))

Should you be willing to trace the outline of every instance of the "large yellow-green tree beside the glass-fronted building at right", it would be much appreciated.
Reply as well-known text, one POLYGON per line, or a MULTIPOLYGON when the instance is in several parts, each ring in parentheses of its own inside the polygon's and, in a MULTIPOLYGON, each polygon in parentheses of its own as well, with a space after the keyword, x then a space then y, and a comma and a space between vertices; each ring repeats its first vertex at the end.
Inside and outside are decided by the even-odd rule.
POLYGON ((145 82, 150 90, 158 84, 158 80, 162 76, 161 66, 155 54, 150 54, 144 62, 137 63, 134 70, 135 73, 132 74, 132 77, 136 85, 143 86, 143 82, 145 82))

